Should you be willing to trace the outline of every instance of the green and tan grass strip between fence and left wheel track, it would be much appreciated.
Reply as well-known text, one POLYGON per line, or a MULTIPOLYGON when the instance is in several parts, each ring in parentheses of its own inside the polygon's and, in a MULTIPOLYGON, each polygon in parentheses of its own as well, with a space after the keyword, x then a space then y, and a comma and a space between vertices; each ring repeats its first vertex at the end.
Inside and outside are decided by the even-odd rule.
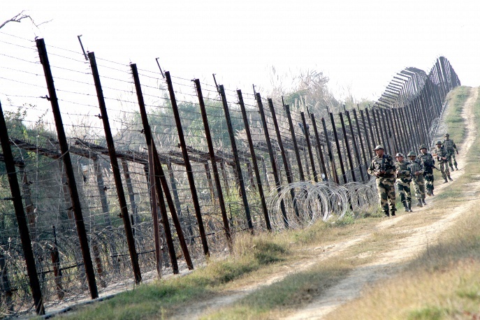
MULTIPOLYGON (((352 224, 346 214, 337 224, 318 221, 304 230, 282 233, 237 234, 233 252, 226 259, 211 259, 184 277, 161 279, 142 284, 110 300, 79 307, 68 319, 159 319, 168 318, 186 304, 219 296, 239 286, 261 282, 272 273, 283 270, 293 261, 310 259, 315 247, 327 246, 343 237, 356 237, 363 227, 378 219, 361 219, 352 224), (353 226, 353 227, 352 227, 353 226), (314 247, 312 248, 312 245, 314 247)), ((333 279, 333 278, 332 278, 333 279)))

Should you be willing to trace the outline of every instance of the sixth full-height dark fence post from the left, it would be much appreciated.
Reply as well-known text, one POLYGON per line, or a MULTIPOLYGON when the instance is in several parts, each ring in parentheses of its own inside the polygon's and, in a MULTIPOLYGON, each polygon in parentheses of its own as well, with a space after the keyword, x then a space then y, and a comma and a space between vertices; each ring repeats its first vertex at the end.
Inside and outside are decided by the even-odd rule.
POLYGON ((217 161, 215 159, 215 152, 212 142, 212 134, 210 133, 210 125, 208 124, 208 117, 207 117, 207 110, 205 108, 205 101, 203 101, 203 93, 202 88, 200 85, 200 80, 195 79, 195 88, 196 94, 198 96, 198 104, 200 105, 200 111, 202 114, 203 119, 203 128, 205 129, 205 138, 207 139, 208 145, 208 154, 210 156, 210 161, 212 162, 212 170, 213 170, 213 178, 215 181, 215 187, 217 188, 217 196, 220 205, 220 212, 221 212, 221 219, 224 222, 224 232, 225 238, 228 243, 228 247, 232 249, 232 234, 230 231, 230 224, 228 221, 228 215, 226 213, 225 201, 224 201, 224 193, 221 190, 221 183, 220 183, 220 175, 218 172, 217 161))

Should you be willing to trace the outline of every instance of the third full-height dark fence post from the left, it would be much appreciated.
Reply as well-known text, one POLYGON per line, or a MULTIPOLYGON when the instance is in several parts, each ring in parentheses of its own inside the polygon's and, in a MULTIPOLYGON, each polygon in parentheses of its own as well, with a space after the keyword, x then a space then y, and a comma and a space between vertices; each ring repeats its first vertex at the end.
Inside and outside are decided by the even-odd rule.
POLYGON ((110 122, 108 122, 108 112, 105 99, 103 98, 103 89, 101 87, 99 69, 96 66, 95 53, 89 52, 88 57, 90 61, 90 67, 92 68, 92 75, 94 77, 96 96, 99 99, 103 129, 105 131, 105 138, 108 146, 108 155, 110 156, 110 165, 112 166, 113 179, 115 180, 115 187, 117 188, 117 196, 121 212, 120 215, 124 222, 126 244, 129 246, 133 277, 135 278, 135 283, 140 284, 140 282, 142 282, 142 274, 140 272, 140 266, 138 265, 138 254, 135 247, 135 239, 133 239, 133 233, 131 230, 129 210, 126 206, 122 176, 120 175, 120 168, 118 165, 117 153, 115 152, 115 144, 113 143, 112 131, 110 131, 110 122))

